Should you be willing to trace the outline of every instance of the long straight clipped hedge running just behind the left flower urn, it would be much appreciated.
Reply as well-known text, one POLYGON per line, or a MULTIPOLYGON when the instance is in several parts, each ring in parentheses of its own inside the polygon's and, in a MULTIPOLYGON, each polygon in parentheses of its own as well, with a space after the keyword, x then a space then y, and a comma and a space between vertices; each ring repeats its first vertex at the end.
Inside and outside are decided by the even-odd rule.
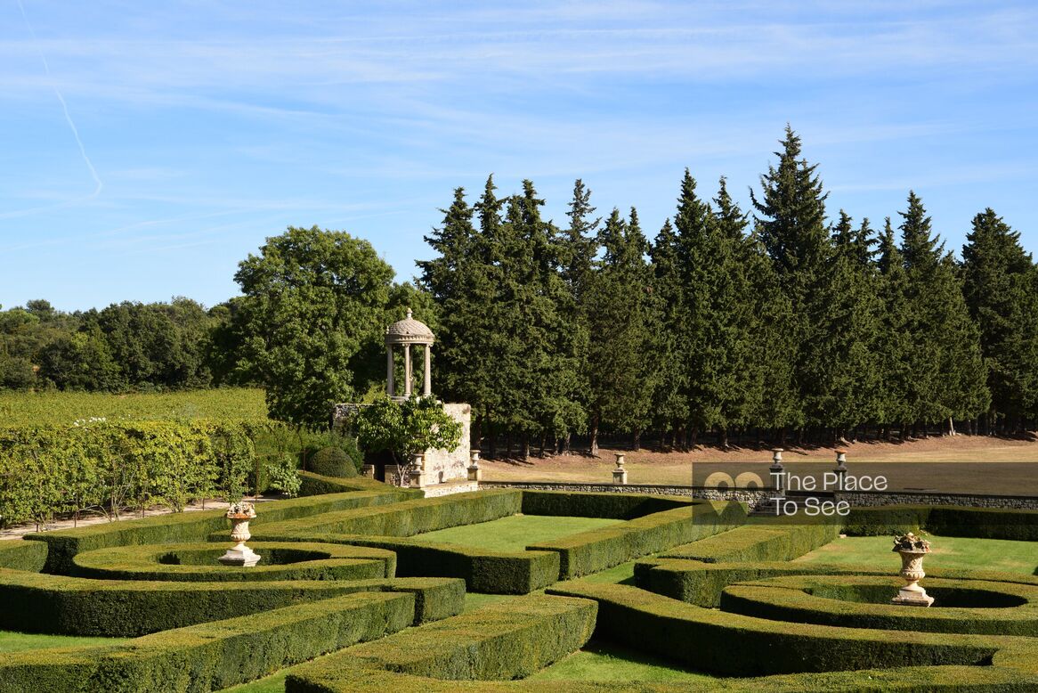
MULTIPOLYGON (((391 486, 384 484, 382 486, 382 489, 378 490, 353 490, 333 496, 262 503, 256 509, 257 516, 252 521, 252 527, 349 508, 384 505, 401 498, 391 486)), ((29 534, 25 538, 45 541, 49 545, 45 571, 69 575, 73 570, 73 557, 82 551, 133 544, 204 541, 213 532, 223 533, 224 537, 229 536, 230 525, 225 514, 224 510, 176 512, 106 525, 40 532, 29 534)))

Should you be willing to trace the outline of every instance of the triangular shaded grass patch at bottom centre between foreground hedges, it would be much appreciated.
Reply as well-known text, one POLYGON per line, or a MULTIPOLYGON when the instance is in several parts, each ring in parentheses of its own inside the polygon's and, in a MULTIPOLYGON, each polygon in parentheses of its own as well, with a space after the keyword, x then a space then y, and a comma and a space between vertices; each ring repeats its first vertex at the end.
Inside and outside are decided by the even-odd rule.
POLYGON ((704 683, 715 679, 627 647, 592 640, 526 681, 704 683))

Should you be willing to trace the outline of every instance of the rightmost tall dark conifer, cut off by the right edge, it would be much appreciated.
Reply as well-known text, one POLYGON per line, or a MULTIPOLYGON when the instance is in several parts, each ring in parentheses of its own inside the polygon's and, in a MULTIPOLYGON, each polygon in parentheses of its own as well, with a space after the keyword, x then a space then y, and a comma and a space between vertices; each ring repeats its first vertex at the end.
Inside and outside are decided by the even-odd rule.
POLYGON ((987 429, 1008 419, 1015 431, 1036 416, 1038 397, 1038 283, 1020 235, 991 208, 973 218, 962 246, 963 293, 980 327, 991 391, 987 429))

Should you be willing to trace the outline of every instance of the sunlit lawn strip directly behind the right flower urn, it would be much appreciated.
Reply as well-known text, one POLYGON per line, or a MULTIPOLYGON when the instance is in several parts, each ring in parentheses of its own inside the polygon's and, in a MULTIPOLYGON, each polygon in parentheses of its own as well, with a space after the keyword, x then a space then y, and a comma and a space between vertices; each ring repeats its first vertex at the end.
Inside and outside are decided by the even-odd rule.
MULTIPOLYGON (((930 541, 933 553, 927 556, 924 569, 979 568, 1033 575, 1038 565, 1038 543, 1034 541, 972 539, 932 534, 926 538, 930 541)), ((831 541, 796 561, 890 565, 893 575, 901 567, 900 559, 891 552, 893 545, 893 538, 887 536, 848 537, 831 541)))

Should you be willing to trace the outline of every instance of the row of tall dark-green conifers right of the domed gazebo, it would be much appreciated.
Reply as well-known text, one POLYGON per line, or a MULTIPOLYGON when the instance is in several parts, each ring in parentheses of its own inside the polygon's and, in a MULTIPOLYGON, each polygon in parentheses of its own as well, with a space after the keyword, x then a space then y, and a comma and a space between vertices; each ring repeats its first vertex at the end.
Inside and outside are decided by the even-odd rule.
POLYGON ((873 224, 826 215, 817 164, 787 128, 752 210, 686 170, 650 242, 637 212, 569 223, 534 184, 455 191, 419 285, 438 306, 436 390, 473 405, 473 437, 567 447, 646 432, 828 442, 1015 432, 1038 418, 1038 269, 992 210, 961 261, 922 199, 873 224))

